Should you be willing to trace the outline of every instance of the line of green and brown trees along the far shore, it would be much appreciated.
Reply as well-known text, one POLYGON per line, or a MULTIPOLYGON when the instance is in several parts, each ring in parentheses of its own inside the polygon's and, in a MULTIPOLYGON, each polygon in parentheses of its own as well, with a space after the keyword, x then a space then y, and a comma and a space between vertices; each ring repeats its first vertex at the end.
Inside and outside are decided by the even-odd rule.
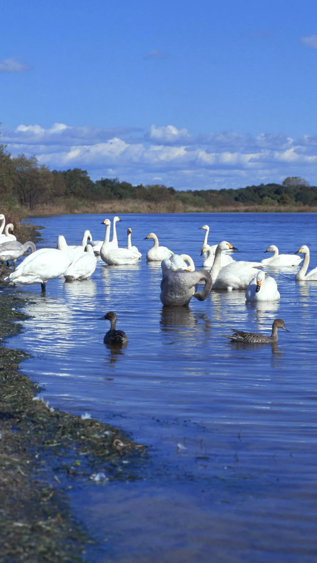
POLYGON ((11 157, 0 144, 0 200, 5 208, 32 210, 56 199, 85 199, 96 202, 133 199, 197 207, 234 205, 317 205, 317 187, 301 177, 285 178, 282 184, 261 184, 221 190, 175 190, 161 184, 133 186, 118 178, 91 180, 86 170, 50 170, 36 157, 11 157))

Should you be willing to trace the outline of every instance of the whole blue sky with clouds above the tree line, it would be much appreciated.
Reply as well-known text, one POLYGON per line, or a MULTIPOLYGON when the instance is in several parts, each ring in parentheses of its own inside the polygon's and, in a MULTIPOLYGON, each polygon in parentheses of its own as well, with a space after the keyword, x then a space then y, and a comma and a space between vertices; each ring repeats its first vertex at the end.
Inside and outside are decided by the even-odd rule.
POLYGON ((178 189, 317 184, 316 2, 16 0, 0 37, 14 155, 178 189))

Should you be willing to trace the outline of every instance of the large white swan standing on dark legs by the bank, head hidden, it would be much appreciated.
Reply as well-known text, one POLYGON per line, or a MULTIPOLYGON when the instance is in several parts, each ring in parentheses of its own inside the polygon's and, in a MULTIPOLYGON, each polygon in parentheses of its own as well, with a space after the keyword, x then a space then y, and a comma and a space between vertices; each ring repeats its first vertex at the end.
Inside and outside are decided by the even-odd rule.
POLYGON ((68 252, 41 248, 27 256, 6 279, 22 285, 40 283, 42 293, 45 293, 46 282, 63 275, 71 262, 72 257, 68 252))

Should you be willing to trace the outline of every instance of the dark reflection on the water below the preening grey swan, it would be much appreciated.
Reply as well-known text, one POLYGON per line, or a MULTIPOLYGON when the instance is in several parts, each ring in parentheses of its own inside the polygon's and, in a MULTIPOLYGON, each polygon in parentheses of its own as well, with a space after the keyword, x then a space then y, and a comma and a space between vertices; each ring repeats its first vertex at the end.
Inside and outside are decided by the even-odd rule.
POLYGON ((192 337, 192 330, 212 332, 212 323, 208 315, 201 311, 193 312, 190 307, 162 307, 160 327, 162 332, 173 332, 187 338, 192 337), (200 320, 203 323, 200 323, 200 320))

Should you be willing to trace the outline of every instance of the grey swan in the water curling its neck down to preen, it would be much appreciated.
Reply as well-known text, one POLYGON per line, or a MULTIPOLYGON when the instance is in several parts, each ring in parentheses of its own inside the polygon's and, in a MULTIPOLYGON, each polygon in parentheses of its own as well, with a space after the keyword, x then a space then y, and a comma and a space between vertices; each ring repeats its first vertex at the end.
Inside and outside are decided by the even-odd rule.
POLYGON ((212 284, 212 276, 206 270, 166 270, 161 281, 160 300, 163 305, 178 307, 188 305, 192 297, 204 301, 212 284), (205 287, 197 292, 197 284, 204 282, 205 287))

